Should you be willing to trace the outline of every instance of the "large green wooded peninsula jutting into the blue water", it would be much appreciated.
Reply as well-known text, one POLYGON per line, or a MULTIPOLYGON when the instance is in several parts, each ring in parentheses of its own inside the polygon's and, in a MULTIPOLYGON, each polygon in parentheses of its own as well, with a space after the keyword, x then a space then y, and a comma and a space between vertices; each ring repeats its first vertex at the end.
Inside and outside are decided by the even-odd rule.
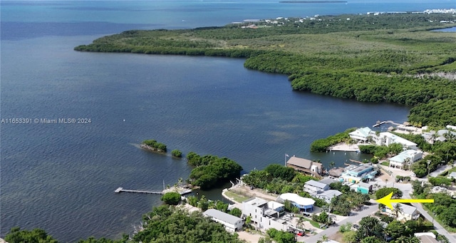
POLYGON ((76 51, 247 58, 246 68, 289 76, 295 91, 410 105, 408 120, 456 124, 454 14, 277 18, 222 27, 132 30, 76 51))

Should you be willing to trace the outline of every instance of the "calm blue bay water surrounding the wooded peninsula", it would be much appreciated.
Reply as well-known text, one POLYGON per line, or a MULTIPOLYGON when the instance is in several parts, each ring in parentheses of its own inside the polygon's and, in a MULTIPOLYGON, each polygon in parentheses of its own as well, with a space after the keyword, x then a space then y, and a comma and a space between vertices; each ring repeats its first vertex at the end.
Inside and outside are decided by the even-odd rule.
MULTIPOLYGON (((79 53, 73 47, 128 29, 219 26, 243 19, 450 8, 455 1, 1 1, 1 118, 90 118, 90 124, 1 124, 0 236, 41 227, 62 242, 130 233, 162 189, 187 178, 184 160, 137 148, 230 157, 249 171, 284 154, 310 153, 317 138, 409 108, 291 91, 286 76, 249 71, 243 59, 79 53)), ((206 192, 217 199, 219 190, 206 192)))

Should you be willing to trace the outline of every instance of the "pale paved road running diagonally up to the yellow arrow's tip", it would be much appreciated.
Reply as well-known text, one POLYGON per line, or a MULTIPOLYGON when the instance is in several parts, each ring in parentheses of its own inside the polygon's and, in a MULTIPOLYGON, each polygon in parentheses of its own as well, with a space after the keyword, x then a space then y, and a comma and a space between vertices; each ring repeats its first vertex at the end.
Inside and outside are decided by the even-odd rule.
POLYGON ((311 236, 311 237, 298 237, 298 242, 316 243, 316 241, 318 239, 320 239, 323 234, 326 234, 326 236, 328 236, 328 237, 330 237, 332 234, 336 234, 336 232, 339 230, 339 227, 342 224, 346 224, 347 222, 356 223, 359 220, 361 220, 363 217, 366 217, 368 215, 373 215, 375 213, 375 211, 378 210, 378 203, 375 202, 375 200, 371 200, 371 202, 372 202, 372 205, 365 206, 361 212, 356 212, 356 215, 343 219, 341 222, 338 222, 337 226, 329 227, 328 229, 323 230, 323 232, 315 234, 314 236, 311 236))

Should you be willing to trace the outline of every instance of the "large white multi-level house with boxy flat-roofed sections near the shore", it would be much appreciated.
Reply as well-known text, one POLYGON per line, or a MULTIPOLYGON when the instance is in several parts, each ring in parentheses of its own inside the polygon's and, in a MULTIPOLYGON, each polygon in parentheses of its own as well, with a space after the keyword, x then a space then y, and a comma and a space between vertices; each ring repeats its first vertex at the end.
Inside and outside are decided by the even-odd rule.
POLYGON ((252 224, 257 229, 288 230, 286 220, 280 218, 280 212, 284 211, 285 205, 266 201, 259 197, 252 197, 242 202, 242 216, 250 217, 252 224))

